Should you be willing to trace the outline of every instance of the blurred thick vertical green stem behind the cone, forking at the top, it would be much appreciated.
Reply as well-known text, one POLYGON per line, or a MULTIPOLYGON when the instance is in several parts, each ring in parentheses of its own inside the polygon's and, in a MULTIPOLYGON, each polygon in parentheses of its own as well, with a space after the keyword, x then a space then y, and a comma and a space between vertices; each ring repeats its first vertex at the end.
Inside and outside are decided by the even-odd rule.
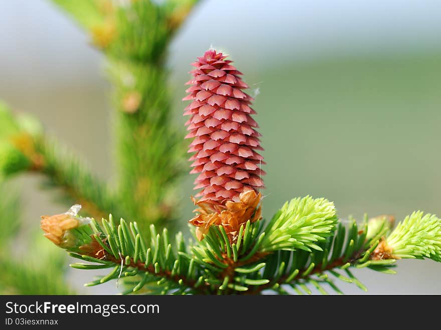
POLYGON ((183 133, 171 124, 166 48, 198 0, 53 0, 108 59, 115 87, 118 193, 125 215, 148 224, 173 219, 183 174, 183 133), (142 37, 140 37, 142 36, 142 37))

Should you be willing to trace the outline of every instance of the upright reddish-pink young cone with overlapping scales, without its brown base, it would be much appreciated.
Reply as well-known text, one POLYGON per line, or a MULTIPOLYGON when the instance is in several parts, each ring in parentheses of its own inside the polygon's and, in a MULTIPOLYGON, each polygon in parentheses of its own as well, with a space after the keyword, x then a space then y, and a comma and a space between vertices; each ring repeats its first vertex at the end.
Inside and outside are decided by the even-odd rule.
POLYGON ((263 188, 261 170, 263 157, 256 150, 260 146, 259 126, 251 118, 256 112, 250 107, 254 99, 242 90, 248 88, 241 72, 225 60, 226 55, 214 50, 205 52, 191 65, 194 77, 186 83, 183 100, 192 100, 184 115, 188 135, 194 138, 188 152, 195 152, 190 173, 200 173, 194 189, 202 189, 196 197, 200 201, 224 204, 239 201, 240 193, 263 188))

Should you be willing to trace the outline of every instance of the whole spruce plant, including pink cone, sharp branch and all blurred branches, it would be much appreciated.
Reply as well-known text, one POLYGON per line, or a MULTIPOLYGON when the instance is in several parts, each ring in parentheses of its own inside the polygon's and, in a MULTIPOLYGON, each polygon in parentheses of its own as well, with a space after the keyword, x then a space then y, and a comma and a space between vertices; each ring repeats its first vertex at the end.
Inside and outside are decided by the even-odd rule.
MULTIPOLYGON (((37 172, 49 179, 47 186, 62 188, 65 204, 74 206, 43 216, 41 229, 81 260, 72 267, 102 271, 86 286, 116 280, 122 293, 342 293, 339 281, 366 290, 354 268, 394 273, 397 259, 441 261, 441 220, 421 211, 396 227, 388 215, 343 224, 334 203, 306 196, 263 219, 265 163, 253 98, 242 73, 214 49, 192 64, 187 83, 186 138, 197 193, 191 196, 195 215, 176 219, 177 179, 186 168, 188 144, 183 128, 172 123, 166 57, 198 0, 52 2, 77 21, 106 59, 114 86, 116 180, 102 182, 38 121, 14 116, 0 103, 0 187, 9 192, 3 180, 37 172), (188 221, 195 239, 181 232, 171 237, 167 227, 173 221, 188 221)), ((72 293, 63 279, 64 254, 45 251, 47 240, 37 244, 41 231, 31 243, 31 258, 38 255, 38 262, 10 253, 18 233, 11 219, 20 207, 14 194, 5 195, 0 290, 72 293)))

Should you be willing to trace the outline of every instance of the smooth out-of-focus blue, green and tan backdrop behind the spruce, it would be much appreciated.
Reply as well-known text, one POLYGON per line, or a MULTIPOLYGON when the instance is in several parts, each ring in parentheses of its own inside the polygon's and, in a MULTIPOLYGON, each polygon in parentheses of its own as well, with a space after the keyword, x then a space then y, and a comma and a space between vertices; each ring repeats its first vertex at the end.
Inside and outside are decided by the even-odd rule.
MULTIPOLYGON (((436 0, 202 1, 170 50, 176 122, 184 122, 189 63, 213 46, 258 94, 267 218, 307 194, 333 200, 343 219, 441 215, 440 31, 436 0)), ((39 117, 105 180, 113 174, 110 93, 103 57, 69 18, 45 0, 0 0, 0 98, 39 117)), ((193 179, 180 187, 183 225, 193 179)), ((41 180, 16 179, 30 227, 65 211, 56 191, 38 189, 41 180)), ((440 264, 405 260, 397 270, 356 275, 369 293, 441 293, 440 264)), ((115 283, 83 288, 91 276, 69 271, 79 292, 117 292, 115 283)))

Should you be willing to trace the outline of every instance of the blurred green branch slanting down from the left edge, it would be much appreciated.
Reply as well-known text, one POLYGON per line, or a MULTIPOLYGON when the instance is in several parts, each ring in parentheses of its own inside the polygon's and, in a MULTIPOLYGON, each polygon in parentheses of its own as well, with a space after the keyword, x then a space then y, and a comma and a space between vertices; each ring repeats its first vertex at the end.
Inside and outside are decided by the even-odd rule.
POLYGON ((0 178, 21 172, 42 173, 51 187, 65 191, 67 204, 80 203, 96 218, 110 212, 123 213, 110 187, 65 147, 47 138, 36 119, 27 114, 13 115, 0 104, 0 130, 0 178))

